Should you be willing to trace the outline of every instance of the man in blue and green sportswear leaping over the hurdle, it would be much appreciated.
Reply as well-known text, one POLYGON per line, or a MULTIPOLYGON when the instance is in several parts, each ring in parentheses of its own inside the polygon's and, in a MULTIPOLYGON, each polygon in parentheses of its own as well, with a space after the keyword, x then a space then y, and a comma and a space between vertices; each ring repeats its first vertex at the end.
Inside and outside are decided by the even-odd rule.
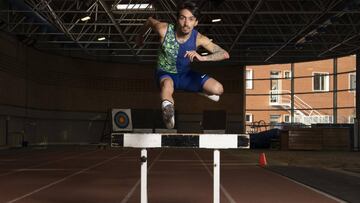
POLYGON ((206 36, 194 29, 198 24, 199 8, 187 1, 178 8, 176 25, 148 18, 136 43, 141 46, 144 34, 152 28, 159 36, 161 48, 158 53, 156 80, 160 86, 163 120, 167 128, 174 128, 174 90, 199 92, 213 101, 218 101, 223 86, 214 78, 190 69, 190 63, 197 61, 220 61, 229 58, 229 54, 206 36), (199 55, 196 50, 204 47, 211 52, 207 56, 199 55))

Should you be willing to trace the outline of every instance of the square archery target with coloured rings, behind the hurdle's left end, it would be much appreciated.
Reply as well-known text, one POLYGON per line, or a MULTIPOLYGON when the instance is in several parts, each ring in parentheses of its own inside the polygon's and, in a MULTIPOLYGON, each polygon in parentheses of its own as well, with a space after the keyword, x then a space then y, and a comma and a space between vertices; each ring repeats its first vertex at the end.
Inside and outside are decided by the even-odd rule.
POLYGON ((112 128, 114 132, 132 131, 131 110, 113 109, 112 128))

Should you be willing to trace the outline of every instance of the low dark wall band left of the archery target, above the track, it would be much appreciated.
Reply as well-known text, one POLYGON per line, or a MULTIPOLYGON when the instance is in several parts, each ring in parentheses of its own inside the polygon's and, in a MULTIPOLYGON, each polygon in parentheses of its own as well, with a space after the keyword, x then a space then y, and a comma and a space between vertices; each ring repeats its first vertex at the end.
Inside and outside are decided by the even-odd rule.
POLYGON ((105 113, 43 111, 11 106, 0 106, 0 112, 8 115, 0 116, 0 146, 20 145, 23 139, 30 144, 97 143, 106 121, 105 113))

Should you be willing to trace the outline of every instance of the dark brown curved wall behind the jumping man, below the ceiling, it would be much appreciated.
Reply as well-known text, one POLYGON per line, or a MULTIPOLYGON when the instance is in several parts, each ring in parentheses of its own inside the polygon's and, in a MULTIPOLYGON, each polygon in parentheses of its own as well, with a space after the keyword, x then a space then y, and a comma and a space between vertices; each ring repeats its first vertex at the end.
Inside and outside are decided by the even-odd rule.
MULTIPOLYGON (((91 132, 98 139, 108 109, 159 109, 154 66, 53 55, 26 47, 1 33, 0 145, 4 143, 6 133, 2 132, 6 118, 9 118, 8 136, 27 131, 36 142, 43 137, 48 137, 49 142, 89 142, 95 139, 94 135, 89 135, 89 123, 92 122, 91 132), (73 115, 81 115, 81 119, 72 119, 73 115), (92 116, 97 118, 91 120, 92 116)), ((243 69, 214 63, 196 64, 194 69, 222 82, 225 94, 220 102, 214 103, 194 93, 178 92, 175 94, 178 114, 201 117, 204 110, 224 109, 231 119, 228 120, 229 132, 242 132, 243 69)))

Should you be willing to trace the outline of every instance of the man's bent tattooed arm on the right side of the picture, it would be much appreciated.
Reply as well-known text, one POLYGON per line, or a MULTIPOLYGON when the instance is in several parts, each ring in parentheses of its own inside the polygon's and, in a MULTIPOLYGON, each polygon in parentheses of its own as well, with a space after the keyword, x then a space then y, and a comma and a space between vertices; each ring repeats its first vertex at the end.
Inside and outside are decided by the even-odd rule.
POLYGON ((202 34, 198 34, 197 46, 202 46, 211 54, 203 56, 203 61, 221 61, 224 59, 230 58, 230 55, 227 51, 221 48, 219 45, 213 43, 209 38, 202 34))

